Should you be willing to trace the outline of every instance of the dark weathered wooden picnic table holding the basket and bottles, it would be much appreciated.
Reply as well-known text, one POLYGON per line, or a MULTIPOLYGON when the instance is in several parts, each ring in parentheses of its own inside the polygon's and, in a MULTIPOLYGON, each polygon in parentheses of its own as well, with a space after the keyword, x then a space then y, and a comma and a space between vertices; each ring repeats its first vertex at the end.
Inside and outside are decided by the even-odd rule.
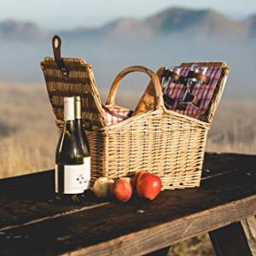
POLYGON ((256 156, 207 154, 201 187, 155 201, 55 201, 54 172, 0 181, 0 255, 164 255, 210 232, 218 255, 255 252, 256 156), (164 249, 162 249, 164 248, 164 249))

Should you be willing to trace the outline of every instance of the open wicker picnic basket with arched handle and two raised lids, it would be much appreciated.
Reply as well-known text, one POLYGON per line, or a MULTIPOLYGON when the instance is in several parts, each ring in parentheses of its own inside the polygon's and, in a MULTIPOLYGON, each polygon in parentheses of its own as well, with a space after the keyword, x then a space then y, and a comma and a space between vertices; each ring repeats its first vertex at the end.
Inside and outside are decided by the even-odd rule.
MULTIPOLYGON (((205 67, 222 67, 212 102, 202 120, 165 108, 160 79, 145 67, 125 68, 114 79, 106 106, 116 106, 115 96, 124 77, 133 72, 148 74, 154 84, 155 109, 119 123, 108 125, 102 108, 93 69, 83 59, 63 58, 69 71, 65 76, 54 58, 41 62, 49 101, 59 129, 63 126, 63 97, 81 96, 82 118, 90 143, 91 177, 126 177, 140 170, 159 175, 163 189, 200 185, 207 133, 224 90, 229 67, 224 62, 200 62, 205 67)), ((183 63, 189 67, 192 63, 183 63)))

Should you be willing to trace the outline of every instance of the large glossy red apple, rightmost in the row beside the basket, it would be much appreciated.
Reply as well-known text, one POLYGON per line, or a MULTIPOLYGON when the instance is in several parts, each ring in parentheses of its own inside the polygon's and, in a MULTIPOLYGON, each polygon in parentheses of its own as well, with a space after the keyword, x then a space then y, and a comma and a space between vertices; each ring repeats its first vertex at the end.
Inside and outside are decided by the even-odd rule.
POLYGON ((144 172, 137 178, 137 195, 140 197, 148 198, 149 200, 154 200, 154 198, 160 194, 162 188, 162 181, 160 177, 144 172))

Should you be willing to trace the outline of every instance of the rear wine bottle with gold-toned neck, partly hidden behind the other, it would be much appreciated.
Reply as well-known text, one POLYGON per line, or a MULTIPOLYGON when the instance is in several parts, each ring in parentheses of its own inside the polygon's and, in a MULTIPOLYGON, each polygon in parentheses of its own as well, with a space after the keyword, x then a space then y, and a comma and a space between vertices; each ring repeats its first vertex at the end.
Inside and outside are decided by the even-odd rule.
POLYGON ((90 189, 90 149, 81 116, 81 97, 75 96, 75 129, 84 156, 84 190, 90 189))

